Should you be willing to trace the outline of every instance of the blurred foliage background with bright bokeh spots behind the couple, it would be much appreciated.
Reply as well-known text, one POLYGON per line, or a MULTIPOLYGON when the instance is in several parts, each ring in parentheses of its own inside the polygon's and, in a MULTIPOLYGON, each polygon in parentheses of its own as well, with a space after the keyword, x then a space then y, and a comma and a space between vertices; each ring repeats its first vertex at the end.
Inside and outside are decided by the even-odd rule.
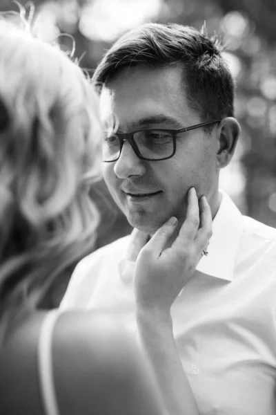
MULTIPOLYGON (((237 84, 235 109, 242 136, 233 162, 221 172, 226 190, 244 214, 276 226, 276 1, 275 0, 32 0, 40 37, 59 37, 89 71, 112 42, 146 21, 177 22, 218 33, 237 84)), ((30 7, 30 3, 23 6, 30 7)), ((18 10, 1 0, 0 10, 18 10)), ((211 104, 211 103, 210 103, 211 104)), ((103 212, 97 246, 130 232, 101 182, 91 191, 103 212)), ((71 270, 52 286, 43 306, 57 306, 71 270)))

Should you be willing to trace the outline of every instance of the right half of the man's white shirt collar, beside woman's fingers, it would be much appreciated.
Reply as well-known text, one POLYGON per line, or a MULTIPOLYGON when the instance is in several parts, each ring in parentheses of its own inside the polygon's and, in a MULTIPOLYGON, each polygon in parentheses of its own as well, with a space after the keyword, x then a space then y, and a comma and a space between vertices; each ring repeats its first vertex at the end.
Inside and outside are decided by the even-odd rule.
POLYGON ((221 190, 221 203, 213 219, 213 235, 208 255, 200 259, 196 270, 219 279, 233 280, 235 257, 243 233, 242 214, 221 190))

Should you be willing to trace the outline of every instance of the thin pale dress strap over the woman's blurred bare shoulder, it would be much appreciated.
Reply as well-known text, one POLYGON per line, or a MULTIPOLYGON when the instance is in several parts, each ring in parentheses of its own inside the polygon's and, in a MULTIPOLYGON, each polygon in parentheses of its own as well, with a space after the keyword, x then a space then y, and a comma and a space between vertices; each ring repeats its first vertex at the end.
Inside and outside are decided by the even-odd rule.
POLYGON ((38 371, 41 400, 45 415, 59 415, 52 367, 52 335, 59 310, 51 310, 44 318, 38 342, 38 371))

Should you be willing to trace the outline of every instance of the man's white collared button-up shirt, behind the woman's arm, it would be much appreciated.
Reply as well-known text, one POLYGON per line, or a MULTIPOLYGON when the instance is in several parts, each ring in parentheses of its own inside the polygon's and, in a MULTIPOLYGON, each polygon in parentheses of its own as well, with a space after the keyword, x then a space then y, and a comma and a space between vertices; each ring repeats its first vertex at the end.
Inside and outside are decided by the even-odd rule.
MULTIPOLYGON (((110 313, 136 333, 129 237, 83 259, 61 309, 110 313)), ((276 414, 276 230, 223 193, 208 256, 172 306, 177 349, 201 415, 276 414)))

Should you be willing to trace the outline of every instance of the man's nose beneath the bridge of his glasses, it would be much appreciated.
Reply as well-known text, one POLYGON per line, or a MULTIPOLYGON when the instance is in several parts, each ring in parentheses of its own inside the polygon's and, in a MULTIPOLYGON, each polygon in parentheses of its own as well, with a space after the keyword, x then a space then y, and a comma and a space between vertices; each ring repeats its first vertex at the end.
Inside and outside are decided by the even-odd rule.
POLYGON ((121 155, 115 162, 114 172, 119 178, 128 178, 130 176, 143 176, 146 173, 144 160, 139 158, 132 149, 128 140, 124 141, 121 155))

